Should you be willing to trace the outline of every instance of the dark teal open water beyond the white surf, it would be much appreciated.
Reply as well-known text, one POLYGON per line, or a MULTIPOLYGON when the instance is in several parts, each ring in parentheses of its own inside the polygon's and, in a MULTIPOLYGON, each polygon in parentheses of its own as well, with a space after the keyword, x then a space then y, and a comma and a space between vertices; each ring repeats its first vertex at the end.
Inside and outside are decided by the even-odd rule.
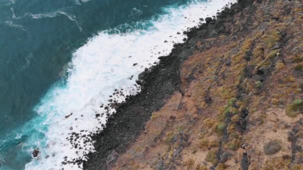
POLYGON ((89 37, 117 27, 147 29, 138 23, 163 14, 163 6, 188 1, 0 0, 0 169, 22 170, 31 160, 21 144, 39 132, 18 139, 15 132, 34 125, 33 107, 62 79, 72 53, 89 37))

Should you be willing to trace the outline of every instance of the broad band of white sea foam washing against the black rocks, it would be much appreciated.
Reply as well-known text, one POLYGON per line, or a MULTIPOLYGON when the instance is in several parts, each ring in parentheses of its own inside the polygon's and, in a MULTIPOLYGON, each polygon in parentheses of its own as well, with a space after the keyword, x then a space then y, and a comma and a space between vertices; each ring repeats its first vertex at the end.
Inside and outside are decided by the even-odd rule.
MULTIPOLYGON (((106 118, 97 119, 95 114, 105 111, 104 107, 99 106, 108 103, 109 95, 115 88, 123 88, 125 95, 138 92, 139 89, 134 86, 135 78, 144 68, 158 61, 157 57, 169 54, 173 42, 182 42, 184 35, 177 35, 177 32, 197 25, 201 17, 215 15, 217 9, 230 1, 236 0, 197 0, 178 8, 167 7, 163 9, 167 14, 150 21, 153 27, 149 30, 113 35, 102 31, 90 38, 73 54, 67 70, 69 76, 66 85, 54 85, 35 108, 46 120, 34 128, 40 130, 41 126, 48 125, 48 129, 40 130, 46 136, 44 140, 32 139, 31 142, 39 146, 40 155, 28 163, 25 169, 81 169, 82 165, 78 168, 78 165, 63 165, 61 162, 65 156, 69 161, 79 157, 85 160, 83 156, 86 153, 94 152, 93 142, 83 144, 80 138, 78 148, 75 149, 66 139, 71 136, 71 132, 81 133, 81 136, 96 132, 100 123, 106 122, 106 118), (168 42, 164 43, 165 40, 168 42), (134 67, 134 63, 138 65, 134 67), (134 79, 128 79, 131 76, 134 79), (66 115, 70 116, 65 118, 66 115), (43 143, 47 147, 43 147, 43 143), (47 155, 50 157, 45 158, 47 155)), ((122 101, 124 97, 116 99, 122 101)))

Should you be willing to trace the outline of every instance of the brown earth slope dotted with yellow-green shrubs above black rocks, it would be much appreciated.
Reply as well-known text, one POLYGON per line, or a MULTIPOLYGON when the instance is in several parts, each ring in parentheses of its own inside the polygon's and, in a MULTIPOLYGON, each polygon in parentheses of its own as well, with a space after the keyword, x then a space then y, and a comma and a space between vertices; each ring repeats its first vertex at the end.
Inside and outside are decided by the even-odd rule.
POLYGON ((303 170, 303 1, 255 0, 222 24, 189 34, 180 90, 110 169, 303 170))

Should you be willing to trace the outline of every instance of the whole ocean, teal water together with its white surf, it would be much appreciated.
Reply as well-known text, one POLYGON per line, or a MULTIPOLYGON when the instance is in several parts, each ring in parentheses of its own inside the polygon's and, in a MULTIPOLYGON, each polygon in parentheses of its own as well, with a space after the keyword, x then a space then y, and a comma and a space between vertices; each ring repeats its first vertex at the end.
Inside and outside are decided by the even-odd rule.
POLYGON ((0 170, 82 169, 62 161, 85 160, 93 141, 75 148, 71 133, 102 130, 115 89, 140 92, 183 31, 235 1, 0 0, 0 170))

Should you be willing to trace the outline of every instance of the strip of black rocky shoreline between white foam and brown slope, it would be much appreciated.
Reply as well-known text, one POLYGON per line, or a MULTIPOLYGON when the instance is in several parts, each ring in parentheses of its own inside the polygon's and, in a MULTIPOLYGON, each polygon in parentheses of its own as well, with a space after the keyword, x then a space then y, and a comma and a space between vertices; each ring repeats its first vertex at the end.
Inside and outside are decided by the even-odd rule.
MULTIPOLYGON (((175 44, 168 56, 160 57, 156 66, 140 74, 137 83, 141 85, 142 91, 116 106, 117 112, 108 119, 106 128, 92 136, 96 141, 94 144, 96 152, 88 155, 89 160, 84 162, 84 170, 109 169, 119 155, 144 132, 152 112, 163 107, 175 91, 183 94, 180 90, 180 65, 193 54, 194 50, 202 51, 209 48, 207 44, 197 47, 197 40, 230 34, 228 23, 233 15, 252 3, 253 0, 239 0, 230 8, 217 13, 216 17, 205 18, 206 23, 184 32, 188 39, 183 44, 175 44)), ((243 167, 247 165, 244 163, 243 167)))

